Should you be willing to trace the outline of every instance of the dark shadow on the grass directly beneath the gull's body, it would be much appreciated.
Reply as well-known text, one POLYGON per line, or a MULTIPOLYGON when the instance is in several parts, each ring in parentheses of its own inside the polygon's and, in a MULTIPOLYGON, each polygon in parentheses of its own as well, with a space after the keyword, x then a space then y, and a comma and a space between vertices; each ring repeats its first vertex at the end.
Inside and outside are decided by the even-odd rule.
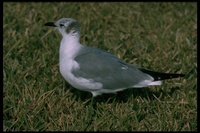
MULTIPOLYGON (((69 85, 68 85, 69 86, 69 85)), ((151 99, 154 100, 156 99, 155 97, 160 97, 160 95, 162 94, 162 98, 164 98, 165 96, 168 95, 172 95, 174 92, 176 92, 177 90, 180 90, 179 87, 173 87, 171 88, 171 90, 166 91, 163 89, 156 89, 156 90, 152 90, 148 87, 146 88, 129 88, 123 91, 119 91, 117 93, 109 93, 109 94, 102 94, 99 95, 97 97, 93 97, 92 93, 90 92, 86 92, 86 91, 80 91, 76 88, 73 87, 69 87, 70 88, 70 92, 73 93, 75 100, 76 101, 91 101, 93 100, 93 102, 95 103, 113 103, 113 102, 118 102, 118 103, 125 103, 128 101, 128 99, 130 97, 141 97, 141 98, 145 98, 145 99, 151 99)))

